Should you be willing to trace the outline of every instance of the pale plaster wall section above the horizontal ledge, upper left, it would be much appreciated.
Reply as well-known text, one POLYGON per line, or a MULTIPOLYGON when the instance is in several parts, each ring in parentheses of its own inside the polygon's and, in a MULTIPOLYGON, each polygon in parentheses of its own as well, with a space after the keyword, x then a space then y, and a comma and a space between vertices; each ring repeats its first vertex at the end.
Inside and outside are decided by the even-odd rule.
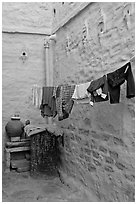
POLYGON ((2 30, 50 34, 52 3, 3 2, 2 30))

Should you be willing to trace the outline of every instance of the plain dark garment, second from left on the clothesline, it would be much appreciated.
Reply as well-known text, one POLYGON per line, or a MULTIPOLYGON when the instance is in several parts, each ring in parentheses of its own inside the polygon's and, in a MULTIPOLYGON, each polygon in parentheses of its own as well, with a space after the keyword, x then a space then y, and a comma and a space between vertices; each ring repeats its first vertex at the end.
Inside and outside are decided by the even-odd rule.
POLYGON ((56 100, 53 96, 54 87, 43 87, 42 102, 41 102, 41 115, 43 117, 55 117, 57 115, 56 100))

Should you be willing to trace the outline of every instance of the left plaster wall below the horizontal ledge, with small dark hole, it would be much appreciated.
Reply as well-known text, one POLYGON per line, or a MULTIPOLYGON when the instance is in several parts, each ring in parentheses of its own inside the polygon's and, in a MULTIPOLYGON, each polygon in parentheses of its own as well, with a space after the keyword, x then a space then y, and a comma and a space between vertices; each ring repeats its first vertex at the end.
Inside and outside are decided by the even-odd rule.
MULTIPOLYGON (((45 85, 44 36, 6 34, 2 36, 2 136, 7 140, 5 125, 14 113, 22 122, 44 125, 39 109, 32 105, 32 87, 45 85), (23 62, 22 52, 27 53, 23 62)), ((4 154, 3 154, 4 158, 4 154)))

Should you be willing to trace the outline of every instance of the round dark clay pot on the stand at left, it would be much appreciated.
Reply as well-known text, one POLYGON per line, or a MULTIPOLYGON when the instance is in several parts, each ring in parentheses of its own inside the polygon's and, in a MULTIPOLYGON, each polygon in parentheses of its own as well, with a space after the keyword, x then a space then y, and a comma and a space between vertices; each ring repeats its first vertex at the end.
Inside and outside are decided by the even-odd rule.
POLYGON ((5 126, 9 137, 20 137, 24 132, 24 124, 20 120, 11 119, 5 126))

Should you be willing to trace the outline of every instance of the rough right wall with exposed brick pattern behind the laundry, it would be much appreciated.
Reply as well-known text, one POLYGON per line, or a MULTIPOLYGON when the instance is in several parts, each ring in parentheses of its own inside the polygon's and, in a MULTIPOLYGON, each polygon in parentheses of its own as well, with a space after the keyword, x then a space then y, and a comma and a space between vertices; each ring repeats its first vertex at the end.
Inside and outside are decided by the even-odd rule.
MULTIPOLYGON (((57 32, 54 83, 83 83, 120 68, 134 55, 134 3, 93 3, 57 32)), ((134 61, 132 70, 134 73, 134 61)), ((134 99, 74 104, 65 133, 62 167, 99 201, 134 201, 134 99)))

